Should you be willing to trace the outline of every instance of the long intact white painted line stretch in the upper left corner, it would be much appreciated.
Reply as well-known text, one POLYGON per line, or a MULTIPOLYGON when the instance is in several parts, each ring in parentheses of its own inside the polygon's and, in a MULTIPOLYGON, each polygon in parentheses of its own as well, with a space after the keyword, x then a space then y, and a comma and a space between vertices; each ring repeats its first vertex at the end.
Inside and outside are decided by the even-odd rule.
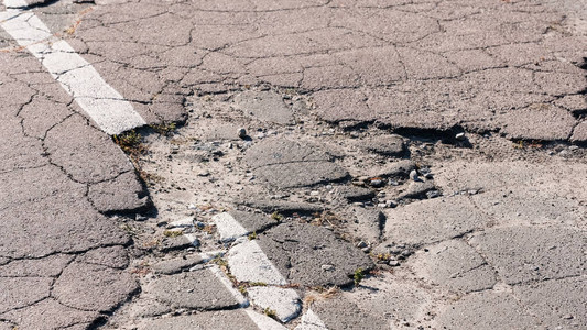
POLYGON ((132 105, 65 41, 58 40, 23 0, 4 0, 0 26, 25 47, 72 95, 81 109, 108 134, 145 125, 132 105))

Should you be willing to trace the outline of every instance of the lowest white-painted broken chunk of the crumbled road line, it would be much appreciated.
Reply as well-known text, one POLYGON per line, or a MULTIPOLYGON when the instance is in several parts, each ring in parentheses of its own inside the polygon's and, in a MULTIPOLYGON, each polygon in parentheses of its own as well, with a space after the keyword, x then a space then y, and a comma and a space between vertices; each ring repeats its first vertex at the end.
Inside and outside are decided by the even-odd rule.
POLYGON ((252 286, 247 288, 252 304, 261 309, 272 310, 280 321, 286 323, 302 311, 300 296, 294 289, 274 286, 252 286))

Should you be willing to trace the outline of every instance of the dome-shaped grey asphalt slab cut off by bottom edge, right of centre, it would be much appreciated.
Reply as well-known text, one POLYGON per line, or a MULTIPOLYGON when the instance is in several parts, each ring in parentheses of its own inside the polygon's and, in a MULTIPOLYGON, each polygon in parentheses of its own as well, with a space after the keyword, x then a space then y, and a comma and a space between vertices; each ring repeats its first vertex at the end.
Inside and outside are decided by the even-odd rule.
POLYGON ((507 293, 485 290, 443 306, 434 319, 436 329, 536 329, 537 320, 507 293))

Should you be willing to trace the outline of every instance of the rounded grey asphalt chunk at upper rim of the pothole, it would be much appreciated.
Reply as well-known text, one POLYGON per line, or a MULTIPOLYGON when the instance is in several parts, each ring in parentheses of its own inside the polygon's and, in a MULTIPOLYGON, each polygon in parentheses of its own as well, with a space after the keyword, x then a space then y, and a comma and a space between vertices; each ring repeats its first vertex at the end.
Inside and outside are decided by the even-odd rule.
POLYGON ((285 105, 281 94, 274 91, 247 90, 235 96, 233 105, 246 116, 261 121, 292 124, 294 120, 292 109, 285 105))

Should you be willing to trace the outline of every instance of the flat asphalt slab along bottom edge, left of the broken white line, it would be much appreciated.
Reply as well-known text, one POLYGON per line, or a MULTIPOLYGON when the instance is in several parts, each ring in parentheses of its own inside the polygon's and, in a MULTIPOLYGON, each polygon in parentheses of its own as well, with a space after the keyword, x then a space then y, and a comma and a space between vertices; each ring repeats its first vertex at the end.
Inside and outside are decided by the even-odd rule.
POLYGON ((258 329, 249 316, 240 310, 206 311, 189 316, 143 320, 139 330, 194 330, 194 329, 258 329))

